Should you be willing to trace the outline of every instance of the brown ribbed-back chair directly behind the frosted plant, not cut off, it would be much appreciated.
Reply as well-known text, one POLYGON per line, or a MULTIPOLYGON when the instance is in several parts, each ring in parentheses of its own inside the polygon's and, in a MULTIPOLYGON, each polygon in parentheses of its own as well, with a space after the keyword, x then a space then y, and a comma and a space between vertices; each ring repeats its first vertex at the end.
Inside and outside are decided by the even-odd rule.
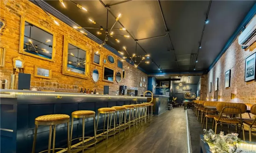
POLYGON ((219 116, 214 117, 215 120, 215 134, 217 133, 217 125, 218 124, 227 124, 228 125, 228 133, 229 133, 229 125, 234 125, 236 126, 236 132, 237 132, 237 127, 240 126, 240 131, 239 134, 241 132, 241 129, 243 129, 243 140, 244 138, 244 128, 243 128, 243 122, 242 122, 242 114, 246 112, 247 107, 245 104, 243 103, 226 103, 226 102, 222 102, 222 103, 218 103, 216 105, 216 109, 218 112, 221 112, 219 114, 219 116), (227 114, 230 115, 232 118, 228 118, 228 117, 223 117, 222 114, 227 114), (239 114, 240 119, 234 117, 233 115, 239 114), (240 125, 239 125, 240 124, 240 125))

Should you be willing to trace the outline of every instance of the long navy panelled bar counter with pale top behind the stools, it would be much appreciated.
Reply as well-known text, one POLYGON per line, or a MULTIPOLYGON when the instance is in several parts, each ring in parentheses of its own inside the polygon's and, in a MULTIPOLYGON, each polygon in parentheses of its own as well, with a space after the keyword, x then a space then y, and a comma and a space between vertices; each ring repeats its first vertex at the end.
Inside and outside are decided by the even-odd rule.
MULTIPOLYGON (((48 114, 67 114, 78 110, 96 112, 102 107, 122 106, 147 102, 146 97, 94 95, 66 92, 0 89, 1 150, 9 153, 28 153, 32 150, 34 119, 48 114)), ((103 128, 104 116, 99 117, 103 128)), ((85 120, 85 136, 94 134, 93 119, 85 120)), ((39 126, 35 152, 48 147, 49 126, 39 126)), ((82 136, 82 119, 74 119, 72 139, 82 136)), ((67 124, 56 126, 56 148, 66 148, 67 124)), ((77 142, 78 143, 78 142, 77 142)), ((73 141, 72 141, 73 144, 73 141)))

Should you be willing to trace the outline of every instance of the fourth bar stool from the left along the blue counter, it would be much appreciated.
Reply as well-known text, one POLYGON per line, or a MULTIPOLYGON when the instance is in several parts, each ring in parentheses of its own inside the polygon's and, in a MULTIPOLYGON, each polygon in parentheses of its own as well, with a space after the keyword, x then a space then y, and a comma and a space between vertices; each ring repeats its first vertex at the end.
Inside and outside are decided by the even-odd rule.
POLYGON ((125 124, 123 125, 123 116, 126 112, 126 108, 123 106, 113 106, 111 108, 114 108, 116 110, 116 122, 114 124, 115 124, 115 130, 119 130, 119 132, 118 132, 118 140, 119 140, 121 130, 126 129, 126 125, 125 124), (117 124, 117 112, 119 112, 119 124, 117 124), (121 117, 121 114, 122 114, 122 117, 121 117), (117 128, 117 125, 119 125, 118 128, 117 128))

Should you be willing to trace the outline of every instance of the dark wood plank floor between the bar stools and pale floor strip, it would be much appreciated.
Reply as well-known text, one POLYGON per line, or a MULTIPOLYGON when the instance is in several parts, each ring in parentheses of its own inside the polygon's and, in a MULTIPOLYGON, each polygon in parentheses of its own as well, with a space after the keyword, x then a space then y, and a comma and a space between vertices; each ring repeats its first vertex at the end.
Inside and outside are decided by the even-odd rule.
MULTIPOLYGON (((150 123, 133 131, 126 136, 122 132, 118 136, 97 144, 97 153, 187 153, 186 113, 183 107, 154 116, 150 123)), ((94 153, 88 149, 86 153, 94 153)))

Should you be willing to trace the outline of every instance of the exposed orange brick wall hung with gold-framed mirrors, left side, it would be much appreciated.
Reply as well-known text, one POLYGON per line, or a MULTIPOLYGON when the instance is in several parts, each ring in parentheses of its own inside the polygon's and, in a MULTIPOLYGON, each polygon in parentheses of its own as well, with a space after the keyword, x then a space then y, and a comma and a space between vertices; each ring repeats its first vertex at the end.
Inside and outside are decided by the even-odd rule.
MULTIPOLYGON (((89 79, 81 79, 77 77, 72 77, 69 75, 62 74, 62 53, 63 53, 63 37, 68 36, 72 37, 75 41, 88 46, 89 50, 89 72, 96 66, 91 63, 92 61, 92 54, 93 49, 97 49, 99 44, 95 41, 89 39, 88 37, 84 36, 80 32, 74 30, 73 28, 69 27, 67 24, 61 22, 60 20, 56 19, 59 22, 59 26, 55 25, 51 19, 43 12, 43 10, 34 5, 33 3, 24 0, 24 1, 8 1, 8 0, 1 0, 0 1, 1 18, 5 18, 7 21, 7 29, 4 32, 4 35, 0 37, 0 44, 1 47, 6 48, 5 54, 5 67, 1 67, 1 80, 8 79, 10 80, 10 74, 12 73, 13 69, 13 61, 14 57, 20 56, 25 61, 25 73, 31 74, 31 86, 42 86, 42 82, 46 86, 51 86, 53 84, 65 84, 70 85, 69 88, 72 88, 73 85, 78 85, 79 88, 97 88, 103 89, 104 85, 109 85, 111 90, 118 90, 119 85, 127 85, 128 87, 138 87, 138 94, 142 94, 143 91, 146 90, 144 87, 139 87, 140 77, 145 77, 147 84, 147 75, 142 71, 138 70, 137 68, 133 67, 132 65, 128 64, 127 62, 123 63, 123 69, 126 70, 126 77, 122 79, 122 81, 118 84, 116 81, 114 83, 109 83, 102 81, 102 66, 97 66, 97 69, 100 72, 100 79, 99 83, 93 83, 91 78, 89 79), (18 52, 19 50, 19 38, 20 38, 20 16, 28 18, 29 20, 36 22, 45 28, 49 29, 52 32, 56 32, 56 55, 55 61, 56 62, 48 62, 45 60, 41 60, 39 58, 31 57, 28 55, 23 55, 18 52), (52 79, 43 79, 37 78, 33 76, 34 73, 34 65, 43 66, 49 69, 52 69, 52 79), (35 83, 35 81, 38 81, 35 83), (41 84, 39 83, 41 82, 41 84), (46 83, 46 84, 45 84, 46 83)), ((117 67, 117 60, 121 60, 120 57, 116 56, 112 52, 108 51, 105 48, 102 48, 100 51, 101 56, 104 58, 107 55, 112 55, 115 58, 114 64, 107 64, 107 67, 114 69, 115 72, 119 71, 122 73, 122 69, 117 67)))

